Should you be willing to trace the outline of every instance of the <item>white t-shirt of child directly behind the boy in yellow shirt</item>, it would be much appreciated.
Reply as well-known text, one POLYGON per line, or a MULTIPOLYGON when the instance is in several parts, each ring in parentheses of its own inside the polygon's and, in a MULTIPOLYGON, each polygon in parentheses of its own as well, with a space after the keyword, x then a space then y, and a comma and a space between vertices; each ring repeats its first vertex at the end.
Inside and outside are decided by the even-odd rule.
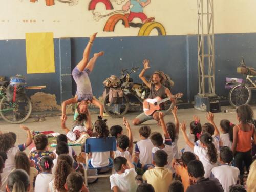
POLYGON ((136 143, 135 153, 140 153, 139 159, 142 165, 151 164, 153 162, 152 149, 154 145, 150 139, 143 139, 136 143))

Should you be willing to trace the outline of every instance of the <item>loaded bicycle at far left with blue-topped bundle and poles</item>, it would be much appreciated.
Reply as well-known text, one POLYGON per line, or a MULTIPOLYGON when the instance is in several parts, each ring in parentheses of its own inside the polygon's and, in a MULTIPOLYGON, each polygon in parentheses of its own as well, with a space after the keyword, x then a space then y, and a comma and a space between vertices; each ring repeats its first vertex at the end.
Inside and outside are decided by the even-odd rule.
POLYGON ((32 113, 32 103, 25 89, 42 89, 46 86, 26 87, 23 76, 11 77, 11 82, 0 82, 0 115, 9 123, 22 123, 32 113))

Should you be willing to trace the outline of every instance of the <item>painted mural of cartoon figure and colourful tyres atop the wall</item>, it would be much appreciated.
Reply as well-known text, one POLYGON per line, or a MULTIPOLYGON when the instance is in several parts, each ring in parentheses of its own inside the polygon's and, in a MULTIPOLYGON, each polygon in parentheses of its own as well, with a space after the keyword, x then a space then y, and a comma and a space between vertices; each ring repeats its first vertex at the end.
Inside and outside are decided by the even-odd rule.
POLYGON ((125 28, 139 28, 138 36, 148 36, 153 29, 157 30, 158 35, 166 35, 164 26, 155 21, 153 16, 148 17, 144 13, 144 9, 151 3, 151 0, 114 0, 112 2, 110 0, 91 0, 88 6, 88 10, 92 12, 96 22, 108 17, 103 31, 114 32, 116 24, 121 20, 125 28), (102 14, 97 11, 96 5, 98 3, 103 3, 109 13, 102 14), (138 20, 135 22, 135 18, 138 18, 139 22, 138 20))

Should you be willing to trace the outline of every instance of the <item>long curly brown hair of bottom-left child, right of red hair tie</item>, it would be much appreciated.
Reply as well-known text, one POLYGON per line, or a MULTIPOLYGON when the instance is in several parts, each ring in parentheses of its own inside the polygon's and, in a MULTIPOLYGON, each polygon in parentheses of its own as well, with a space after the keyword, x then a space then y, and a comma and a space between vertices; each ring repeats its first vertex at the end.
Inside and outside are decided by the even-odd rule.
POLYGON ((57 167, 54 179, 54 188, 58 191, 66 191, 64 184, 70 172, 72 171, 73 160, 69 155, 60 155, 57 161, 57 167))

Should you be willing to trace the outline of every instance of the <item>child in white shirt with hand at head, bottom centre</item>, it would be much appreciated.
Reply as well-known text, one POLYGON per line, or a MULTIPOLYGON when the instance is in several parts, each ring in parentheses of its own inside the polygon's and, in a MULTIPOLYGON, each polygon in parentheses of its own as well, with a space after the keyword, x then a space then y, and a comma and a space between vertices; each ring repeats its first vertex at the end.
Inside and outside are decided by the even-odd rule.
POLYGON ((131 161, 124 157, 116 157, 113 165, 116 173, 110 176, 111 190, 114 192, 136 192, 138 185, 135 177, 137 173, 131 161))

